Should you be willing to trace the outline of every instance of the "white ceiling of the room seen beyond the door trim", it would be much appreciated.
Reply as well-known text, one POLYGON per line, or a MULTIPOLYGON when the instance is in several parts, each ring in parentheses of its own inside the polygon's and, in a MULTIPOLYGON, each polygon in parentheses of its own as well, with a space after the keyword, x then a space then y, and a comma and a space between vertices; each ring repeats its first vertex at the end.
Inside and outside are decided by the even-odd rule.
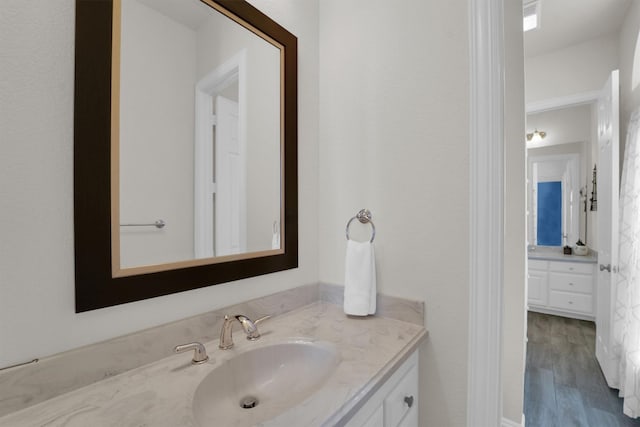
POLYGON ((539 27, 524 33, 525 56, 537 56, 617 33, 632 1, 539 0, 539 27))

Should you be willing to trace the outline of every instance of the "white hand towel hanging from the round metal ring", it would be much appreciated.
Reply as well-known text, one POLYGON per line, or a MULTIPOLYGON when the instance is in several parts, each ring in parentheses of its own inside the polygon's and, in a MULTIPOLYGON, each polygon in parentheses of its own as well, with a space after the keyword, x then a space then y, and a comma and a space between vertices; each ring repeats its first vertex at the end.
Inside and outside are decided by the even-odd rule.
POLYGON ((344 312, 367 316, 376 312, 376 262, 371 242, 347 241, 344 312))

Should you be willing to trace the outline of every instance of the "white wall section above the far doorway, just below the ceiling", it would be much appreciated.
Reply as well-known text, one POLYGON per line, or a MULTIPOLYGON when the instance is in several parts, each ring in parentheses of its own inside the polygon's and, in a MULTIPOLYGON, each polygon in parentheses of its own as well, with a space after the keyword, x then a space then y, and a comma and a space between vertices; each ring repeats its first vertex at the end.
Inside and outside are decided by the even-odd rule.
POLYGON ((617 68, 617 34, 525 57, 526 102, 600 90, 617 68))

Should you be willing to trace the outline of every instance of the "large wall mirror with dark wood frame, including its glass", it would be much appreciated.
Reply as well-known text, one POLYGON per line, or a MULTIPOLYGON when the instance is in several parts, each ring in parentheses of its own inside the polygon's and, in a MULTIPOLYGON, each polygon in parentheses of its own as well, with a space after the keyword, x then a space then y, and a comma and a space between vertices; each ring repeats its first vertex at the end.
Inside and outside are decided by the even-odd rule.
POLYGON ((76 0, 76 311, 297 267, 297 40, 243 0, 76 0))

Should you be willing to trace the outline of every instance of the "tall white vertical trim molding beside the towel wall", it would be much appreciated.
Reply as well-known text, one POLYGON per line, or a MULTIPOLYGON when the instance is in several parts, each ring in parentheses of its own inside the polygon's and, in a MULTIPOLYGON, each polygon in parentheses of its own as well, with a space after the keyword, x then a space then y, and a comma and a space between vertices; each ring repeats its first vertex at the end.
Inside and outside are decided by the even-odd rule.
POLYGON ((469 0, 470 297, 467 425, 502 422, 504 4, 469 0))

